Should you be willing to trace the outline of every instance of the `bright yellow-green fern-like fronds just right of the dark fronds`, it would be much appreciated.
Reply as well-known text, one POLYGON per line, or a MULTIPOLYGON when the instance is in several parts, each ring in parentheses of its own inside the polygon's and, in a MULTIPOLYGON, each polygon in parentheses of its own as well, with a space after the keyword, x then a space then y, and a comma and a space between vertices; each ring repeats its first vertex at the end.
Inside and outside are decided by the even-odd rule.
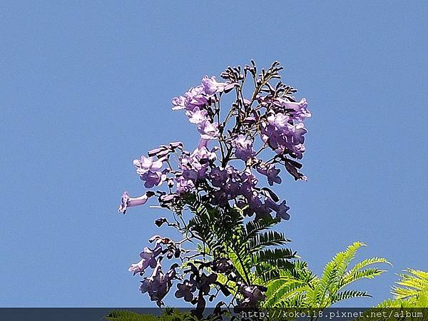
POLYGON ((347 250, 337 253, 327 265, 320 277, 314 275, 306 263, 295 263, 289 270, 280 270, 277 275, 265 273, 267 299, 264 307, 312 307, 325 308, 353 297, 370 296, 367 292, 343 290, 352 282, 364 278, 372 279, 381 275, 372 265, 388 263, 384 258, 370 258, 357 263, 348 270, 357 250, 363 243, 354 243, 347 250))

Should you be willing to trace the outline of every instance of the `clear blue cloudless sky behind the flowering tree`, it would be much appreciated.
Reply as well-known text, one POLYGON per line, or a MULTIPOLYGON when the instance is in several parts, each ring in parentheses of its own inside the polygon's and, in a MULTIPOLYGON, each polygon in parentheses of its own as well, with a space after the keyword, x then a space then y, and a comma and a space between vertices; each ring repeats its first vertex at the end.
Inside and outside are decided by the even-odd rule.
POLYGON ((316 272, 356 240, 389 259, 352 306, 428 270, 427 16, 426 1, 1 1, 0 306, 153 306, 128 265, 168 213, 116 212, 144 190, 132 161, 193 146, 170 98, 251 58, 282 62, 313 115, 309 180, 276 189, 292 248, 316 272))

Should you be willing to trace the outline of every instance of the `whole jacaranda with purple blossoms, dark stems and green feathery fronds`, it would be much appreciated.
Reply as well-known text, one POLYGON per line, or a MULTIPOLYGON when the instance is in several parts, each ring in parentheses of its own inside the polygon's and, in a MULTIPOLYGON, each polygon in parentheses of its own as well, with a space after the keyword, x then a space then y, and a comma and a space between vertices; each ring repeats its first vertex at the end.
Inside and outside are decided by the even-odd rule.
MULTIPOLYGON (((200 85, 173 98, 199 133, 195 146, 162 145, 133 161, 146 188, 133 198, 123 193, 123 214, 150 198, 170 210, 158 226, 178 230, 182 238, 154 235, 140 260, 129 267, 144 276, 140 290, 158 306, 168 292, 195 306, 203 315, 207 300, 217 311, 266 306, 325 307, 366 292, 340 292, 350 282, 382 270, 367 265, 347 270, 362 244, 355 243, 327 265, 318 278, 286 248, 289 240, 274 225, 289 220, 289 207, 272 187, 283 172, 306 180, 300 172, 305 152, 305 120, 311 116, 305 98, 280 81, 280 63, 267 69, 254 61, 228 67, 218 81, 205 76, 200 85), (197 145, 196 145, 197 144, 197 145)), ((178 304, 179 305, 179 304, 178 304)))

